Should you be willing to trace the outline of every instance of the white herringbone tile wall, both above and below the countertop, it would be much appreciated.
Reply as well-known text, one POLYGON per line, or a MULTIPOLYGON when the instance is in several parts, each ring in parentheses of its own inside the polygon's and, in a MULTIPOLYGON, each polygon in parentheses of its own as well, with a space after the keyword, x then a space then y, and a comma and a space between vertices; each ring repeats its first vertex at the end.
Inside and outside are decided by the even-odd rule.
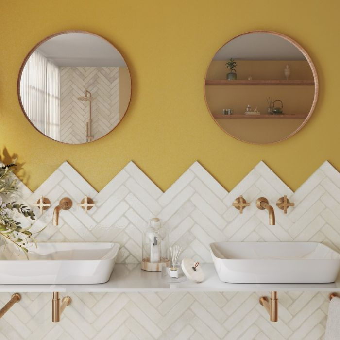
MULTIPOLYGON (((119 242, 119 262, 138 265, 142 231, 155 215, 171 242, 185 247, 183 255, 202 262, 211 262, 207 245, 217 240, 318 241, 340 251, 340 173, 328 162, 295 192, 260 162, 230 193, 198 162, 164 193, 133 162, 100 192, 65 162, 34 192, 20 182, 16 199, 32 206, 40 195, 52 206, 41 216, 35 210, 32 230, 47 226, 39 241, 119 242), (96 204, 87 215, 76 205, 84 195, 96 204), (239 195, 251 203, 242 215, 231 205, 239 195), (287 215, 275 206, 283 195, 295 203, 287 215), (65 196, 74 205, 56 228, 53 208, 65 196), (274 205, 275 226, 256 209, 260 196, 274 205)), ((280 293, 280 322, 269 323, 255 293, 81 293, 71 294, 75 303, 53 325, 45 313, 50 295, 23 294, 0 321, 0 339, 313 340, 323 338, 329 304, 321 293, 280 293)), ((8 296, 0 294, 1 301, 8 296)))

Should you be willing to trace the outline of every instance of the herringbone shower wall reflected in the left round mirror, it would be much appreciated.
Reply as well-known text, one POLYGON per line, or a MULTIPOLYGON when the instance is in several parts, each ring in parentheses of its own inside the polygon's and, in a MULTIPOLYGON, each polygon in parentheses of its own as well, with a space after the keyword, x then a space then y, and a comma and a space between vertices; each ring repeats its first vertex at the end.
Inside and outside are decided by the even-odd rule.
POLYGON ((89 102, 77 98, 91 92, 92 136, 98 139, 119 123, 119 67, 60 68, 60 141, 86 142, 89 102))

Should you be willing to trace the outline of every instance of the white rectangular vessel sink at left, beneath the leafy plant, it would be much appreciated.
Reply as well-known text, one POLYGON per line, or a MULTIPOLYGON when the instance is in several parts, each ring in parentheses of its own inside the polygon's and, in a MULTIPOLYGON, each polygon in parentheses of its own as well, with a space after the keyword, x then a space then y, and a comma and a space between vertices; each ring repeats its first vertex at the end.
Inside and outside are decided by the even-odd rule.
POLYGON ((0 247, 0 284, 80 284, 108 281, 118 243, 34 243, 28 259, 15 245, 0 247))

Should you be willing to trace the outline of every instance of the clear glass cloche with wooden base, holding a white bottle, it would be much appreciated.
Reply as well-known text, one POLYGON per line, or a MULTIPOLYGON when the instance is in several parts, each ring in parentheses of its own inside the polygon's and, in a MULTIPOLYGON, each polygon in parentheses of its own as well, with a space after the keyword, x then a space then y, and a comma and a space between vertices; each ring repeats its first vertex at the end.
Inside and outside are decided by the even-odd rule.
POLYGON ((160 272, 163 266, 169 264, 169 233, 162 221, 154 217, 149 220, 143 235, 141 269, 160 272))

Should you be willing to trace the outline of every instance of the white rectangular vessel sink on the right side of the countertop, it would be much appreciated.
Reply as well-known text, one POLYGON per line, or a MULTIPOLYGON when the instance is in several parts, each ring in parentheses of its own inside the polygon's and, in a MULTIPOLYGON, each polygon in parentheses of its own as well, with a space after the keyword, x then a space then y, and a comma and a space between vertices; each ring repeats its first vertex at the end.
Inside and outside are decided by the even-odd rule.
POLYGON ((216 272, 229 283, 330 283, 340 254, 316 242, 215 242, 216 272))

